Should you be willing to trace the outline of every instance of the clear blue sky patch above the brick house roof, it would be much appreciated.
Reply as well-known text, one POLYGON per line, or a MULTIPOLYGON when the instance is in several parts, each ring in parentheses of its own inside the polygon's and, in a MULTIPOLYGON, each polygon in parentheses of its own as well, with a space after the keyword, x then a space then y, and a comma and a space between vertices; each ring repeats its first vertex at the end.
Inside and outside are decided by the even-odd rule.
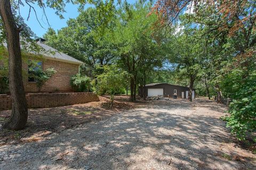
MULTIPOLYGON (((128 2, 134 3, 135 0, 130 0, 128 2)), ((91 6, 91 5, 88 4, 85 7, 87 8, 89 6, 91 6)), ((38 7, 37 5, 34 5, 34 7, 35 7, 35 10, 37 11, 37 18, 39 19, 39 22, 42 24, 42 26, 44 28, 42 28, 41 25, 37 22, 36 16, 35 16, 35 13, 33 12, 33 10, 31 10, 30 18, 27 21, 29 6, 26 3, 24 4, 24 6, 20 7, 20 14, 24 18, 26 24, 30 27, 30 29, 38 37, 42 37, 44 35, 44 33, 47 31, 47 29, 49 28, 49 25, 47 24, 45 17, 42 18, 43 9, 38 7)), ((78 5, 73 5, 71 3, 66 4, 66 7, 65 7, 66 13, 63 13, 63 16, 65 19, 60 19, 59 16, 55 14, 55 11, 52 8, 49 8, 49 7, 45 8, 45 13, 49 20, 51 28, 53 28, 54 30, 57 31, 57 30, 61 29, 62 27, 66 27, 66 25, 67 25, 66 22, 68 19, 76 18, 79 15, 79 13, 77 11, 77 7, 78 7, 78 5)))

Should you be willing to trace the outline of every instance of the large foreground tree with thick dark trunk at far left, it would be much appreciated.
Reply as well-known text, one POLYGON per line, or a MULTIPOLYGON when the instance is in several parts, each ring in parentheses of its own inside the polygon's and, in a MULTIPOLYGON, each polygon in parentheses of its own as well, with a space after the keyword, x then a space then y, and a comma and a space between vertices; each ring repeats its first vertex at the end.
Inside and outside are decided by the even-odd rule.
MULTIPOLYGON (((12 96, 12 113, 9 118, 9 120, 3 125, 3 128, 9 128, 13 130, 19 130, 25 128, 25 125, 27 123, 27 115, 28 115, 28 109, 27 109, 27 103, 26 103, 26 97, 25 97, 25 91, 23 88, 23 82, 22 82, 22 74, 21 74, 21 49, 20 49, 20 34, 22 35, 22 32, 28 33, 28 27, 26 24, 24 24, 22 21, 23 19, 19 16, 19 8, 20 5, 23 3, 26 3, 29 6, 29 12, 28 12, 28 18, 30 16, 30 12, 33 11, 36 15, 36 19, 39 22, 36 14, 36 10, 33 7, 33 4, 37 3, 39 7, 43 8, 44 16, 48 22, 48 19, 45 14, 44 7, 48 6, 51 8, 54 8, 56 10, 56 14, 60 16, 60 18, 63 18, 62 13, 65 12, 64 7, 65 3, 69 3, 70 1, 54 1, 54 0, 46 0, 38 1, 38 0, 31 0, 31 1, 12 1, 10 3, 10 0, 3 0, 0 1, 0 15, 1 15, 1 23, 3 25, 3 32, 4 36, 1 37, 1 40, 3 43, 3 40, 6 39, 7 43, 7 49, 9 54, 9 88, 12 96), (18 12, 17 12, 18 11, 18 12), (17 14, 18 13, 18 14, 17 14), (22 24, 19 24, 22 23, 22 24), (4 38, 3 38, 4 37, 4 38)), ((81 8, 83 8, 86 1, 72 1, 72 3, 79 3, 81 4, 81 8)), ((89 1, 89 3, 94 3, 95 6, 99 7, 99 13, 101 15, 100 18, 103 18, 105 16, 106 20, 108 19, 112 14, 113 9, 113 1, 110 0, 105 1, 89 1)), ((49 24, 49 22, 48 22, 49 24)), ((50 25, 50 24, 49 24, 50 25)), ((2 33, 1 33, 2 34, 2 33)), ((31 40, 30 36, 23 36, 23 39, 31 40)), ((31 41, 30 41, 31 42, 31 41)), ((23 44, 24 47, 29 43, 23 44)), ((33 44, 33 43, 32 43, 33 44)), ((30 44, 29 44, 30 45, 30 44)), ((36 46, 35 46, 36 47, 36 46)))

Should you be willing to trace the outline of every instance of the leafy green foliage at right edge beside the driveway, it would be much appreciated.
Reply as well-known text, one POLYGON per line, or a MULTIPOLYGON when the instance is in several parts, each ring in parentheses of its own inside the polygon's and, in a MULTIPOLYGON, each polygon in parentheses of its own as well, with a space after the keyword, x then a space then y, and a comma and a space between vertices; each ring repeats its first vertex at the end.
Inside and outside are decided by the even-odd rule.
POLYGON ((232 70, 221 84, 226 90, 225 95, 233 99, 228 111, 230 115, 222 119, 227 121, 227 127, 240 140, 245 140, 248 134, 256 131, 256 62, 252 61, 253 58, 255 56, 249 59, 246 71, 243 67, 232 70))

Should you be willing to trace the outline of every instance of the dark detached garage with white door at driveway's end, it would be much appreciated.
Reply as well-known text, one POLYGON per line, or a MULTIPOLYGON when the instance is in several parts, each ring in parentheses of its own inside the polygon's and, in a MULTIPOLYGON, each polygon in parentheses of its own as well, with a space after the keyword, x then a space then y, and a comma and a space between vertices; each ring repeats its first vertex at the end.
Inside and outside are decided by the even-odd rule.
MULTIPOLYGON (((195 89, 192 91, 192 98, 196 98, 195 89)), ((176 86, 169 83, 151 83, 146 85, 146 95, 148 97, 176 95, 178 98, 188 98, 188 87, 176 86)))

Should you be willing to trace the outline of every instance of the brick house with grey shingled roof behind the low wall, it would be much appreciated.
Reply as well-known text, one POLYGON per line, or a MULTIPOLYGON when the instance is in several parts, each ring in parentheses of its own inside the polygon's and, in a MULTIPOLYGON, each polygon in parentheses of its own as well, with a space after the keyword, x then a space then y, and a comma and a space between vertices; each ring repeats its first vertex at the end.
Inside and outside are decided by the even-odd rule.
POLYGON ((54 68, 56 71, 52 77, 43 85, 41 92, 52 91, 72 91, 70 86, 70 78, 79 73, 79 66, 83 62, 75 58, 58 52, 58 50, 44 44, 45 39, 37 39, 37 44, 45 49, 42 56, 26 56, 22 57, 23 85, 26 92, 37 92, 36 82, 29 79, 28 67, 31 60, 36 61, 41 69, 54 68))

